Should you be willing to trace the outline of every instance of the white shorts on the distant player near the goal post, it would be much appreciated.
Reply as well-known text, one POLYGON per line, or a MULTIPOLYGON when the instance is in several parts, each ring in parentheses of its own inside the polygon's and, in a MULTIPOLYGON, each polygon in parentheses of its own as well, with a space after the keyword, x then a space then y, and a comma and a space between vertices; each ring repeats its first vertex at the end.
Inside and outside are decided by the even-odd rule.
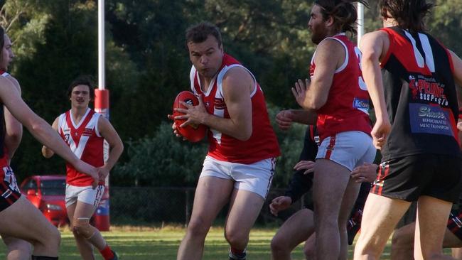
POLYGON ((104 185, 98 185, 97 188, 93 189, 92 186, 73 186, 66 185, 66 207, 74 204, 78 201, 84 202, 95 207, 100 204, 102 194, 104 193, 104 185))

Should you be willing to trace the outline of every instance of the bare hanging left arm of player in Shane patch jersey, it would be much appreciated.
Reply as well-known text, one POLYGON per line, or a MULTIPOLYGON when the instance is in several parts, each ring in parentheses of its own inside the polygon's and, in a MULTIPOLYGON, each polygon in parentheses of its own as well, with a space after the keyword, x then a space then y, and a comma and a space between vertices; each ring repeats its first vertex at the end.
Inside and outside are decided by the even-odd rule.
POLYGON ((367 85, 372 104, 374 104, 377 119, 371 134, 375 147, 379 149, 385 143, 391 129, 380 71, 380 60, 385 57, 389 46, 390 40, 387 33, 383 31, 366 33, 360 42, 362 77, 367 85))

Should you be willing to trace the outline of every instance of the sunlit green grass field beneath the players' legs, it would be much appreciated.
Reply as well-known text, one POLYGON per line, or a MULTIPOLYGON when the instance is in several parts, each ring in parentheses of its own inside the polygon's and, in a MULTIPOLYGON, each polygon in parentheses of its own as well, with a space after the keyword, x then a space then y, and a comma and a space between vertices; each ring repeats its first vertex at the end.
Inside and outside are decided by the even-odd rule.
MULTIPOLYGON (((60 247, 60 259, 77 260, 80 255, 75 247, 72 233, 68 229, 61 229, 62 242, 60 247)), ((254 229, 250 233, 248 260, 269 260, 269 242, 276 233, 276 229, 254 229)), ((176 251, 185 234, 185 229, 179 227, 166 227, 163 229, 114 227, 111 232, 103 232, 103 236, 109 244, 119 252, 124 260, 174 260, 176 251)), ((353 247, 350 247, 349 258, 352 259, 353 247)), ((6 248, 0 243, 0 259, 5 259, 6 248)), ((96 254, 97 259, 102 259, 96 254)), ((294 250, 292 259, 301 260, 303 252, 301 247, 294 250)), ((223 237, 223 229, 214 227, 210 229, 205 242, 205 260, 227 259, 227 244, 223 237)), ((384 251, 381 259, 390 259, 390 243, 384 251)))

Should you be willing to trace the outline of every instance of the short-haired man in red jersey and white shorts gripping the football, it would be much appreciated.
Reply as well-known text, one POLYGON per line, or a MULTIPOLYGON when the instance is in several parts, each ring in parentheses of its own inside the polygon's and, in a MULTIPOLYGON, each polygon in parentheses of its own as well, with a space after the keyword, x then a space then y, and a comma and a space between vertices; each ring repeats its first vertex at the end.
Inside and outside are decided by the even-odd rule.
POLYGON ((177 259, 201 259, 205 236, 228 202, 225 238, 230 259, 246 259, 249 232, 259 215, 279 156, 262 89, 252 72, 222 46, 219 29, 203 22, 186 31, 191 63, 190 87, 199 104, 176 108, 173 123, 208 126, 208 154, 195 190, 193 212, 177 259))

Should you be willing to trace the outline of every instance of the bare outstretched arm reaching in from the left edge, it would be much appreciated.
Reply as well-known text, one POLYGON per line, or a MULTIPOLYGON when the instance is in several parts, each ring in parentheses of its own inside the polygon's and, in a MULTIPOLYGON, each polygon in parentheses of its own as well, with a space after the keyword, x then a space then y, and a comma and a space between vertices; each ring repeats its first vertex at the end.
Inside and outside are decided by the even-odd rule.
POLYGON ((71 163, 77 170, 87 173, 97 179, 97 171, 89 164, 80 161, 75 156, 58 133, 51 128, 41 117, 38 117, 21 99, 18 91, 14 90, 14 85, 6 78, 0 77, 0 97, 6 108, 18 119, 28 131, 45 146, 50 147, 55 153, 71 163))

